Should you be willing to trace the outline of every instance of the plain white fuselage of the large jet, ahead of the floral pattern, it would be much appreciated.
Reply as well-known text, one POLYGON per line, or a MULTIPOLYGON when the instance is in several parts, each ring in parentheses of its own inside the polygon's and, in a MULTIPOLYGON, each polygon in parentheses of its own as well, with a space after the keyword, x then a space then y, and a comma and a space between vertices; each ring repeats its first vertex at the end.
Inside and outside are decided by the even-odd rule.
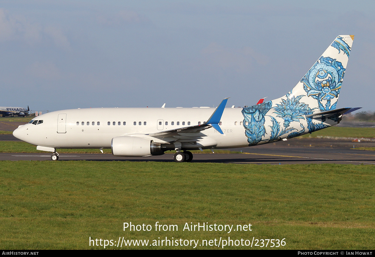
MULTIPOLYGON (((33 119, 42 123, 25 124, 13 134, 33 145, 52 148, 111 148, 114 137, 203 124, 213 111, 214 108, 70 109, 42 114, 33 119)), ((213 128, 200 132, 200 142, 207 141, 207 146, 202 148, 248 146, 241 111, 242 108, 225 108, 220 125, 224 135, 213 128)), ((170 140, 166 137, 159 141, 170 140)), ((198 149, 191 143, 186 143, 184 148, 198 149)))

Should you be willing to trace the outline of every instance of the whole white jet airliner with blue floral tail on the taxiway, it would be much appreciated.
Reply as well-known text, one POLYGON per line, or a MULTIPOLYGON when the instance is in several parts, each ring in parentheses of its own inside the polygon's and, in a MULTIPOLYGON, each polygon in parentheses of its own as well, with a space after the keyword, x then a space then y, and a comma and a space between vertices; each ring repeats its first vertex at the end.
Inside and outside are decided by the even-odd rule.
POLYGON ((336 109, 354 36, 338 36, 285 96, 247 108, 90 108, 49 112, 13 135, 37 150, 111 148, 115 156, 161 155, 191 161, 189 150, 237 148, 286 140, 338 124, 336 109))

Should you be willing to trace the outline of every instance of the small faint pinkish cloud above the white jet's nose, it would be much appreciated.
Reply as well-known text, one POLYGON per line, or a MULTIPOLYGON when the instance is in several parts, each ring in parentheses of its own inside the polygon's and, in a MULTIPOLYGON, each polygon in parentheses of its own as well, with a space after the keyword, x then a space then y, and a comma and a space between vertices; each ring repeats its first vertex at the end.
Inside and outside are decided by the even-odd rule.
POLYGON ((40 63, 36 61, 27 67, 26 73, 35 78, 46 80, 56 80, 61 77, 60 70, 52 62, 40 63))

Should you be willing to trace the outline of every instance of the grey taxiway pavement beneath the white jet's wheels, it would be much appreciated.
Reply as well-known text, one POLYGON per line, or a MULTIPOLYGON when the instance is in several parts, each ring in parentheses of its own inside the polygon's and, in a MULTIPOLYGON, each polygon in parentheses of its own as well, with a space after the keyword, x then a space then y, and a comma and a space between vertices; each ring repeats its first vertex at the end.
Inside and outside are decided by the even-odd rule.
MULTIPOLYGON (((276 143, 277 144, 277 143, 276 143)), ((275 144, 275 145, 276 145, 275 144)), ((375 152, 342 147, 275 146, 274 144, 237 148, 242 154, 194 154, 193 163, 253 164, 375 164, 375 152)), ((98 150, 99 151, 99 150, 98 150)), ((0 153, 0 160, 48 161, 49 153, 0 153)), ((111 154, 60 154, 58 161, 163 161, 172 162, 172 154, 150 157, 117 157, 111 154)))

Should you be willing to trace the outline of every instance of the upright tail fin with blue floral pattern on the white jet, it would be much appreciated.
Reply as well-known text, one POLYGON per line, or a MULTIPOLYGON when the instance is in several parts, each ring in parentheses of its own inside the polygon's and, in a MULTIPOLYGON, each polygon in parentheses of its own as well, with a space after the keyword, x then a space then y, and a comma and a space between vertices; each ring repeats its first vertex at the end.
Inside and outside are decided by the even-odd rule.
POLYGON ((336 109, 353 39, 353 35, 336 37, 286 97, 302 96, 301 102, 313 112, 336 109))

